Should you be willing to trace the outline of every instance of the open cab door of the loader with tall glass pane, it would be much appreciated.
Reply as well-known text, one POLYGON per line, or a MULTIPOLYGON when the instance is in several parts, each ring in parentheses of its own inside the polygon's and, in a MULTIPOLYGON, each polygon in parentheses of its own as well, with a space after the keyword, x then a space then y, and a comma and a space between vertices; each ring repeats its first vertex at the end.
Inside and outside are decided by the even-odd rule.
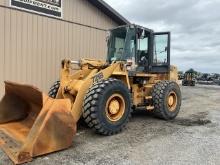
POLYGON ((170 69, 170 32, 154 33, 153 36, 150 72, 167 73, 170 69))

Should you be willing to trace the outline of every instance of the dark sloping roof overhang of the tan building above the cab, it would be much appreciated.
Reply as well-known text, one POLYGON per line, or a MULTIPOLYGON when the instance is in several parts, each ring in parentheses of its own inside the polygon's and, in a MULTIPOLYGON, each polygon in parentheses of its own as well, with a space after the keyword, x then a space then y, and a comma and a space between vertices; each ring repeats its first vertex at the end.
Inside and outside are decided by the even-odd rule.
POLYGON ((98 9, 100 9, 107 16, 112 18, 112 20, 117 22, 119 25, 130 24, 130 22, 126 18, 124 18, 121 14, 119 14, 115 9, 113 9, 103 0, 88 0, 88 1, 94 6, 96 6, 98 9))

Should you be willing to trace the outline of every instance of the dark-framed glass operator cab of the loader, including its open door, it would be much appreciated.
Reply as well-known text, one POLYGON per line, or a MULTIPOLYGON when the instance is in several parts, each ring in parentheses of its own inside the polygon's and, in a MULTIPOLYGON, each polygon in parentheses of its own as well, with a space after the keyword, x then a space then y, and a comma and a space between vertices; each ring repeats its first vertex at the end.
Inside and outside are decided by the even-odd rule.
POLYGON ((129 71, 166 73, 170 68, 170 32, 154 33, 138 25, 109 31, 109 63, 125 61, 129 71))

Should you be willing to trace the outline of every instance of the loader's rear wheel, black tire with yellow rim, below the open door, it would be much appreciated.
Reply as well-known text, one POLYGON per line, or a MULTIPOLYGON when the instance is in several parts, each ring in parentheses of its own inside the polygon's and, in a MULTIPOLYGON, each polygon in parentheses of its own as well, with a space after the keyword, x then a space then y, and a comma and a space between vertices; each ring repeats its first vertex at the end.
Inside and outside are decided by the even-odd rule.
POLYGON ((179 85, 173 81, 161 81, 152 90, 154 115, 164 120, 172 120, 179 113, 182 97, 179 85))

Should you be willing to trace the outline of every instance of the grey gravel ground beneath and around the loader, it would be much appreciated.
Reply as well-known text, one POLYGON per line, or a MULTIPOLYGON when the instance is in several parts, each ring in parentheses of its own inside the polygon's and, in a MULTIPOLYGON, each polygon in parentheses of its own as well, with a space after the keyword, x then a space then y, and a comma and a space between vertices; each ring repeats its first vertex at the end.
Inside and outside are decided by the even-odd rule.
MULTIPOLYGON (((182 87, 182 96, 174 121, 138 111, 127 129, 115 136, 80 127, 71 148, 28 165, 220 164, 220 87, 182 87)), ((12 165, 2 151, 0 165, 12 165)))

